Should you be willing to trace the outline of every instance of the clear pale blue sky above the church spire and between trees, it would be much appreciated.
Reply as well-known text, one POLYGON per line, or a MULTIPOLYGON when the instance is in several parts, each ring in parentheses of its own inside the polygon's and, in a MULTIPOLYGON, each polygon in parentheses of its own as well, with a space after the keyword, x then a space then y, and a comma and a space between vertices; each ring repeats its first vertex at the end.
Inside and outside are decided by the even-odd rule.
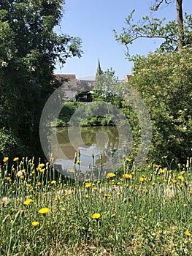
MULTIPOLYGON (((115 41, 113 29, 120 34, 125 18, 134 12, 134 23, 146 16, 176 19, 175 2, 151 12, 154 0, 66 0, 64 17, 55 29, 58 34, 69 34, 82 39, 82 57, 66 60, 63 68, 55 67, 55 74, 75 74, 78 79, 93 79, 100 60, 101 69, 112 68, 119 79, 131 74, 133 63, 125 56, 126 48, 115 41)), ((191 14, 192 0, 183 1, 183 13, 191 14)), ((131 55, 147 55, 163 42, 157 39, 137 39, 129 47, 131 55)))

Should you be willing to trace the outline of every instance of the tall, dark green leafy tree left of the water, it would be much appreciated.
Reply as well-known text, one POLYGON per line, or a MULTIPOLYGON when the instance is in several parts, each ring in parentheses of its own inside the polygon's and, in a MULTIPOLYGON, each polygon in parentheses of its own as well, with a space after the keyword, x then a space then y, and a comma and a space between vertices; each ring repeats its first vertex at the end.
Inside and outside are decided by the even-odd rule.
POLYGON ((39 120, 50 94, 55 61, 80 57, 81 40, 57 35, 61 0, 4 0, 0 3, 0 127, 12 131, 30 151, 40 153, 39 120))

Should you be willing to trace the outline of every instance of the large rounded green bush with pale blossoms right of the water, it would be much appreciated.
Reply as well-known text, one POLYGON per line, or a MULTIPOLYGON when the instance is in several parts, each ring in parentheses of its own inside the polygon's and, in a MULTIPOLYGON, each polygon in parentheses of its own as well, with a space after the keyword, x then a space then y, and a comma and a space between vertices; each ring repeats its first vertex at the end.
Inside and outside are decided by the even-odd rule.
MULTIPOLYGON (((191 157, 192 143, 192 50, 182 54, 150 53, 135 58, 129 85, 136 89, 147 105, 153 124, 150 159, 160 162, 168 156, 179 163, 191 157)), ((126 85, 123 86, 126 91, 126 85)), ((128 94, 128 91, 126 91, 128 94)), ((130 108, 123 103, 123 111, 130 116, 130 108)), ((133 124, 134 117, 131 118, 133 124)), ((138 124, 133 127, 138 135, 138 124)), ((137 145, 135 146, 137 147, 137 145)))

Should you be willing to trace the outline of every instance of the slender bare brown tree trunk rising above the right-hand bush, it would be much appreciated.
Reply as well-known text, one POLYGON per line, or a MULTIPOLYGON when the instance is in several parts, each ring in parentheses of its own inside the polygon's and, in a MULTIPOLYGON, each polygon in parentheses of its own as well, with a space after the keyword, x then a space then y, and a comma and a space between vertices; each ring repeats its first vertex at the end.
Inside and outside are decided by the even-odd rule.
POLYGON ((178 23, 178 48, 179 51, 182 50, 184 46, 184 28, 183 28, 183 8, 182 8, 183 0, 176 1, 177 8, 177 23, 178 23))

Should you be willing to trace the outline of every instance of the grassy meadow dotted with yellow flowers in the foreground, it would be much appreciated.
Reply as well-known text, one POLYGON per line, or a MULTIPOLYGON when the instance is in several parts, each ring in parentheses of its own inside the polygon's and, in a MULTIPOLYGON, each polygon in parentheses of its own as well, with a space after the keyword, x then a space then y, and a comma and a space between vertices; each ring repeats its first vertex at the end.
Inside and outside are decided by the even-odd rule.
POLYGON ((191 159, 178 170, 129 163, 93 183, 5 158, 0 255, 192 255, 191 159))

